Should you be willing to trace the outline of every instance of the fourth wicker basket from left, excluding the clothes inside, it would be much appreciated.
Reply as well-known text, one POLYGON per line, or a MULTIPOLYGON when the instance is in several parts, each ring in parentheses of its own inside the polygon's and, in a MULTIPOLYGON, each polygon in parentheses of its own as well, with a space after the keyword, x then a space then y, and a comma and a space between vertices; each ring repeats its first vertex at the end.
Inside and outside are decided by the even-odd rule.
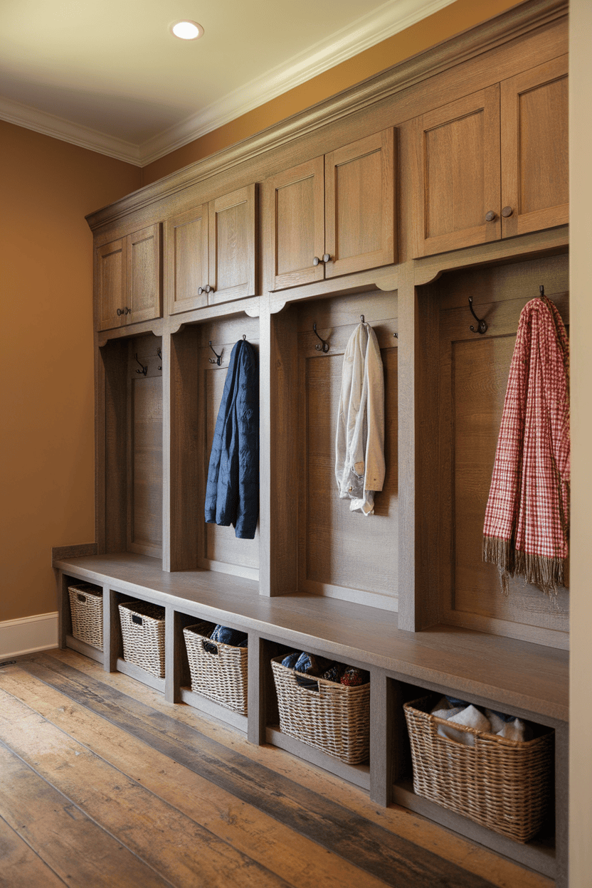
POLYGON ((370 753, 370 684, 351 687, 314 678, 318 690, 301 687, 296 682, 300 673, 282 666, 282 659, 272 660, 281 733, 346 765, 365 762, 370 753))

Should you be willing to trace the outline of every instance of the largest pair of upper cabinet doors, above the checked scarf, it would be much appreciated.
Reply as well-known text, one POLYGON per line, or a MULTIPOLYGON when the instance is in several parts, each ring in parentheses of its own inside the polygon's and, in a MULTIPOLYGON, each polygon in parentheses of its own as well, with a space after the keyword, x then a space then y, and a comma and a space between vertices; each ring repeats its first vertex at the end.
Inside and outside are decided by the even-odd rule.
POLYGON ((567 56, 414 124, 416 257, 568 221, 567 56))

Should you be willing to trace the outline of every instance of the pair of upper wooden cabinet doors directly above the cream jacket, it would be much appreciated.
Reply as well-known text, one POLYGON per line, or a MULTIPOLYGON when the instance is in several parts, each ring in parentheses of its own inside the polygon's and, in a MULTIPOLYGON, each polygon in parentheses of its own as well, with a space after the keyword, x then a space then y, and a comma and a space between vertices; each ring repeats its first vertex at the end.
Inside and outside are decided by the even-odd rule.
POLYGON ((272 289, 394 262, 394 170, 388 129, 267 179, 272 289))

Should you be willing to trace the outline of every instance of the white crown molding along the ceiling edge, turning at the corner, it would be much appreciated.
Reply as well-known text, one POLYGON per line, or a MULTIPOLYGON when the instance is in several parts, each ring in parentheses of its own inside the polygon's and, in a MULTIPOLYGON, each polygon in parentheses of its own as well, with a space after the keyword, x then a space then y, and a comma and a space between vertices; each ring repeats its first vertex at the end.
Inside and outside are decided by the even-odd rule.
POLYGON ((247 114, 253 108, 311 80, 340 62, 351 59, 382 40, 399 34, 399 31, 410 28, 415 22, 453 2, 454 0, 389 0, 353 25, 336 31, 327 40, 287 59, 280 66, 228 93, 224 99, 212 103, 141 145, 133 145, 1 96, 0 119, 144 167, 187 145, 193 139, 199 139, 236 117, 247 114))

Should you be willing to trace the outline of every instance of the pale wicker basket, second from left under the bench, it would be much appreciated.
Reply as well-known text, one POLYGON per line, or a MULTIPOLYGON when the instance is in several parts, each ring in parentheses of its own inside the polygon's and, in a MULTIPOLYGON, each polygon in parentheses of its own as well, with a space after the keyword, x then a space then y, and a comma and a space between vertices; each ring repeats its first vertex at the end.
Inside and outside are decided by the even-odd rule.
POLYGON ((119 606, 123 659, 156 678, 164 678, 164 607, 149 601, 125 601, 119 606))

